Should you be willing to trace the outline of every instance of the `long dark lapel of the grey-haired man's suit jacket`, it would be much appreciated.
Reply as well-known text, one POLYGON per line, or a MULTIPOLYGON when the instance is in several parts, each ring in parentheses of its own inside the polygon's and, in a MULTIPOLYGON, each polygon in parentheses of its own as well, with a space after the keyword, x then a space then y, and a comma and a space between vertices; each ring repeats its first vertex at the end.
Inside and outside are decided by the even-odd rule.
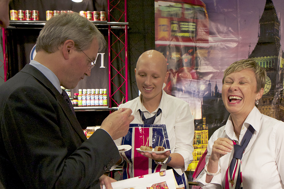
POLYGON ((62 95, 58 92, 58 90, 54 87, 54 85, 44 76, 41 71, 36 69, 34 66, 31 66, 27 64, 21 72, 25 72, 28 74, 31 74, 33 77, 35 77, 45 88, 54 96, 54 98, 57 100, 59 105, 62 107, 62 110, 64 111, 65 115, 67 116, 68 120, 71 123, 71 126, 74 128, 74 130, 78 133, 78 135, 83 139, 86 140, 86 136, 82 130, 82 127, 80 126, 80 123, 78 122, 75 115, 72 113, 72 110, 70 110, 70 107, 67 105, 67 102, 64 100, 62 95))

